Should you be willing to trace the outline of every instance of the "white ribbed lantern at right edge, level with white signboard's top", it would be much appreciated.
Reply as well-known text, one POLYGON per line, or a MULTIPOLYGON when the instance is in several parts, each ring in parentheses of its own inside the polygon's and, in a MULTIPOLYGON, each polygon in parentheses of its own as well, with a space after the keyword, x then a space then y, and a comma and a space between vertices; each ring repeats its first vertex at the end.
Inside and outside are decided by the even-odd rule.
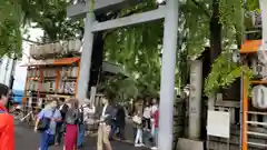
POLYGON ((256 86, 253 88, 253 106, 257 109, 267 109, 267 88, 265 86, 256 86))

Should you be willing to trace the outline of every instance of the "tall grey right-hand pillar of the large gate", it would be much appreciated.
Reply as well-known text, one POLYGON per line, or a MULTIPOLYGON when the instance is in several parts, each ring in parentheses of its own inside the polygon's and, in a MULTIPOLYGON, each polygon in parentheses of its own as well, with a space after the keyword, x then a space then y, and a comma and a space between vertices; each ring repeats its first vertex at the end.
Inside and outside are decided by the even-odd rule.
POLYGON ((159 104, 159 150, 172 149, 178 0, 167 0, 159 104))

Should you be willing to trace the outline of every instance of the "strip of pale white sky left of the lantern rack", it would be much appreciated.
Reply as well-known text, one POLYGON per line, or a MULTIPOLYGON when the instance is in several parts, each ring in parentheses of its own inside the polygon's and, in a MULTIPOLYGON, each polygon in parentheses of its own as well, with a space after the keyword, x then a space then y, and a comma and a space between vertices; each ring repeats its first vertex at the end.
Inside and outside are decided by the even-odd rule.
MULTIPOLYGON (((29 34, 30 34, 30 40, 37 41, 42 36, 42 30, 41 29, 29 29, 29 34)), ((24 37, 26 38, 26 37, 24 37)), ((21 64, 28 62, 28 57, 29 57, 29 48, 30 48, 29 42, 23 41, 22 48, 22 60, 17 63, 16 67, 16 72, 14 72, 14 84, 13 89, 16 90, 23 90, 24 89, 24 81, 26 81, 26 76, 27 76, 27 68, 21 67, 21 64)))

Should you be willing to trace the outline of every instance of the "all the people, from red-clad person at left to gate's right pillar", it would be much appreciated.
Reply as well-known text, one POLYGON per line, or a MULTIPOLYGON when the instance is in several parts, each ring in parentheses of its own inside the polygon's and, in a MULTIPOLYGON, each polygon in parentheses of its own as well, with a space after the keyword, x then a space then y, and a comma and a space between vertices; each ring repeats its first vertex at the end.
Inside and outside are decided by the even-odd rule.
MULTIPOLYGON (((0 149, 14 150, 13 118, 8 113, 6 104, 9 101, 10 89, 0 83, 0 149)), ((59 146, 63 139, 65 150, 80 149, 85 143, 87 126, 98 124, 97 149, 112 150, 110 140, 125 138, 126 111, 120 104, 112 106, 109 98, 101 98, 102 108, 96 112, 96 107, 86 100, 79 103, 77 99, 67 102, 51 100, 37 116, 34 131, 40 133, 39 150, 48 150, 59 146), (97 120, 93 118, 97 116, 97 120)), ((144 139, 157 149, 159 109, 157 99, 147 101, 144 109, 131 113, 134 122, 135 146, 142 147, 144 139), (145 136, 146 134, 146 136, 145 136)))

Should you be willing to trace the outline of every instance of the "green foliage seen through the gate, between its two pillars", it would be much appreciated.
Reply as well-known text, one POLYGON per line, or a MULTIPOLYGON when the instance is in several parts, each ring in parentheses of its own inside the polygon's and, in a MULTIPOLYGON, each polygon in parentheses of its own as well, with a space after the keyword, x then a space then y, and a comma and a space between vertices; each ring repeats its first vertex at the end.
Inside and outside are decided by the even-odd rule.
MULTIPOLYGON (((155 9, 155 0, 123 9, 118 17, 155 9)), ((160 84, 162 21, 108 31, 105 38, 106 59, 123 66, 139 94, 157 94, 160 84)), ((125 87, 126 88, 126 87, 125 87)))

